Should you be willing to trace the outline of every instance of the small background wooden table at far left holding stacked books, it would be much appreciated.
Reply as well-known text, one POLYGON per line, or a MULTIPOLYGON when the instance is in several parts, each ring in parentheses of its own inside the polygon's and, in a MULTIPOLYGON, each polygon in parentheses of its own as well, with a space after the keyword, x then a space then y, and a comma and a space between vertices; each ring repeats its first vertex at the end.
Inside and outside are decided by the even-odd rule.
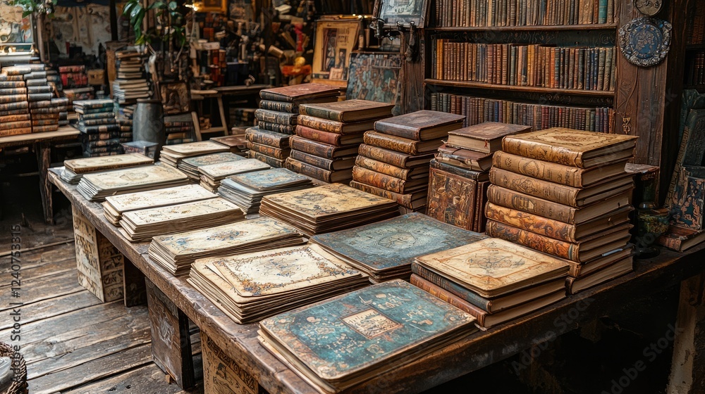
POLYGON ((42 193, 44 222, 54 224, 54 204, 51 199, 51 183, 47 178, 47 170, 51 161, 51 145, 56 141, 76 139, 80 132, 71 127, 59 127, 56 132, 19 134, 0 137, 0 151, 12 146, 34 145, 37 152, 37 167, 39 167, 39 192, 42 193))

